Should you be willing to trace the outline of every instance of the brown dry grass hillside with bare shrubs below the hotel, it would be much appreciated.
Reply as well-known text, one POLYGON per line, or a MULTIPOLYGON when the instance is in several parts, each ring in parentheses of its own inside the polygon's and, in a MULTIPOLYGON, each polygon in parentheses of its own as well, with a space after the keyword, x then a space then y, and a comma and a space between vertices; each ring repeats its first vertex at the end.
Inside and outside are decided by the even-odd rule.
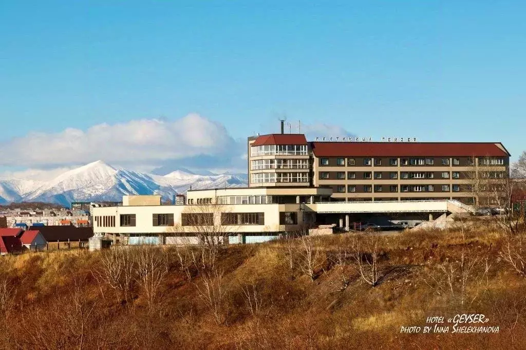
POLYGON ((3 348, 523 348, 526 248, 484 229, 0 259, 3 348), (498 333, 452 333, 460 326, 498 333), (433 326, 449 333, 401 333, 433 326))

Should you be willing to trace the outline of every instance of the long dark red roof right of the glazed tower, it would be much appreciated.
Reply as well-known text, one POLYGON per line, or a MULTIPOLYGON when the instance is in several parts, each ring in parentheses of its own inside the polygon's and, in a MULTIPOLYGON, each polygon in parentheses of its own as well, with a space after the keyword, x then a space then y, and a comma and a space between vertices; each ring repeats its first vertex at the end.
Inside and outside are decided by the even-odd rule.
POLYGON ((317 157, 510 156, 502 144, 489 142, 312 142, 312 151, 317 157))

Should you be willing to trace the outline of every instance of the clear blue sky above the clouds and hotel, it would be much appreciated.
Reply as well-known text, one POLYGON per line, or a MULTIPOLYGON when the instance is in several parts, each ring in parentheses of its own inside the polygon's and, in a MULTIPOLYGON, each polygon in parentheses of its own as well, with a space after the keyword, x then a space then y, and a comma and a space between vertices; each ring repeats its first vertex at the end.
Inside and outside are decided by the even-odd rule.
MULTIPOLYGON (((34 132, 46 143, 197 113, 236 141, 286 115, 375 140, 502 141, 515 159, 526 150, 524 13, 519 1, 3 1, 0 148, 22 157, 34 132)), ((63 149, 0 166, 68 165, 63 149)), ((195 156, 179 153, 137 162, 195 156)), ((94 160, 84 154, 74 159, 94 160)))

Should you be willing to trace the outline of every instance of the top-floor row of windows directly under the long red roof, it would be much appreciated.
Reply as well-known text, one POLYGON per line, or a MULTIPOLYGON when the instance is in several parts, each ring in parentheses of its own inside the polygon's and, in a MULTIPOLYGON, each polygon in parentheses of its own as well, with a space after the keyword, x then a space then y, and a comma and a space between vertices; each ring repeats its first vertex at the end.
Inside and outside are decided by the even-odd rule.
MULTIPOLYGON (((336 165, 344 166, 345 160, 346 158, 336 158, 336 165)), ((440 161, 441 165, 450 165, 450 158, 441 158, 440 161)), ((381 158, 363 158, 362 162, 363 164, 360 165, 383 165, 381 158)), ((460 158, 452 158, 451 162, 453 165, 460 165, 460 158)), ((473 159, 468 158, 467 164, 473 165, 473 159)), ((504 158, 480 158, 479 164, 503 165, 504 158)), ((320 165, 329 165, 329 158, 320 158, 320 165)), ((357 165, 355 158, 347 158, 347 165, 357 165)), ((398 165, 398 158, 389 158, 388 165, 398 165)), ((400 165, 434 165, 434 158, 400 158, 400 165)))

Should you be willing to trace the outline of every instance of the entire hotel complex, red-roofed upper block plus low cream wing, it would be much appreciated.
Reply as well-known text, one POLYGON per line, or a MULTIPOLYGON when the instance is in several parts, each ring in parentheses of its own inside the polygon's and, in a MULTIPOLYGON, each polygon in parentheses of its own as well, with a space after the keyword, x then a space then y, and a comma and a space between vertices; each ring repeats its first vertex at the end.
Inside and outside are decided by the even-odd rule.
POLYGON ((229 243, 258 242, 320 223, 345 220, 348 229, 361 214, 472 212, 477 179, 509 176, 500 142, 326 139, 286 134, 281 122, 279 134, 248 137, 248 187, 188 190, 185 205, 127 196, 123 206, 92 208, 94 232, 129 244, 178 243, 215 225, 229 243))

